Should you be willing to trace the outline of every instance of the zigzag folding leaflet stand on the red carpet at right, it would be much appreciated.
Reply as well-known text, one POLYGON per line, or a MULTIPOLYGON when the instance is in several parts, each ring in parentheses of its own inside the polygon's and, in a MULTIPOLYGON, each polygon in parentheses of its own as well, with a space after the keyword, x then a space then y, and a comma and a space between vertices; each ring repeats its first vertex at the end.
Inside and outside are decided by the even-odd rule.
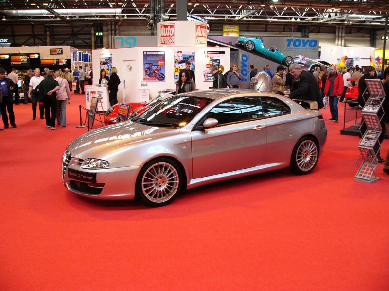
MULTIPOLYGON (((365 79, 367 88, 369 90, 370 97, 362 109, 363 122, 366 124, 367 130, 363 134, 361 141, 359 142, 359 151, 361 152, 358 159, 355 161, 358 165, 358 160, 362 156, 363 162, 359 167, 358 172, 355 175, 355 180, 363 182, 374 182, 381 178, 373 176, 377 169, 378 160, 377 155, 381 147, 378 137, 381 134, 381 119, 378 113, 382 111, 382 103, 384 102, 385 93, 382 82, 379 79, 365 79)), ((365 92, 366 92, 365 90, 365 92)), ((365 93, 363 92, 363 93, 365 93)), ((361 130, 363 123, 359 130, 361 130)), ((362 133, 362 132, 361 132, 362 133)), ((359 166, 359 165, 358 165, 359 166)))

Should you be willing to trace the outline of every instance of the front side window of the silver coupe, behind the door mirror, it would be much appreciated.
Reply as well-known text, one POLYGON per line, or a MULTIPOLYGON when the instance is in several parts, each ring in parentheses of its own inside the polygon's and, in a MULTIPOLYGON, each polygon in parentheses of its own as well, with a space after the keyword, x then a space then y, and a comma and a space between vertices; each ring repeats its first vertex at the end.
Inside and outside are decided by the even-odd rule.
POLYGON ((219 121, 219 125, 223 125, 262 117, 260 97, 239 97, 216 105, 206 114, 203 121, 207 118, 215 118, 219 121))

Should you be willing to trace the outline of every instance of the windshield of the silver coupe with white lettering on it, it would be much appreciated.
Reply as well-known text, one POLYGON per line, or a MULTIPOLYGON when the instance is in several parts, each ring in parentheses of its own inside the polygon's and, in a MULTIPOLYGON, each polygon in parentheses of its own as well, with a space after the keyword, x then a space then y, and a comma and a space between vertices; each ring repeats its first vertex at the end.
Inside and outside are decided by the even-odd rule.
POLYGON ((133 118, 132 121, 151 126, 182 127, 188 124, 211 101, 203 97, 172 96, 133 118))

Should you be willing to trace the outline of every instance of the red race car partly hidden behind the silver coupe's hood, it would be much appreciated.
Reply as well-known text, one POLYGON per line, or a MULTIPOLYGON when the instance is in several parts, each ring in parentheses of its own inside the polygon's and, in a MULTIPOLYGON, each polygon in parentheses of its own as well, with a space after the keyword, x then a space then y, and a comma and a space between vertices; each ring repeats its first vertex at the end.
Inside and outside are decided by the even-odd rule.
MULTIPOLYGON (((176 90, 166 89, 166 90, 160 91, 158 96, 149 102, 143 102, 143 103, 124 102, 124 104, 132 105, 132 110, 130 109, 130 115, 129 115, 129 118, 132 118, 132 117, 138 115, 139 113, 142 113, 145 110, 149 109, 151 106, 154 106, 159 101, 164 100, 167 97, 173 96, 175 94, 176 94, 176 90)), ((119 103, 108 108, 108 110, 104 114, 105 125, 115 124, 117 122, 117 120, 118 120, 117 119, 118 107, 119 107, 119 103)))

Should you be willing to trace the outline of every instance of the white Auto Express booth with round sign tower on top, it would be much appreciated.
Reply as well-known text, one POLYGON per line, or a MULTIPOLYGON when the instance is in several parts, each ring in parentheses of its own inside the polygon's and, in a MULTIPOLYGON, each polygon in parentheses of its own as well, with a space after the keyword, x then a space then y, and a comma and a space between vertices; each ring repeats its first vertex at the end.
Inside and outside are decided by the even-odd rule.
POLYGON ((165 21, 158 23, 157 32, 158 47, 93 50, 93 83, 99 83, 101 69, 110 76, 114 66, 121 80, 119 102, 139 103, 156 97, 161 90, 175 88, 179 71, 185 68, 187 60, 191 62, 199 90, 212 87, 211 65, 218 65, 223 71, 230 67, 230 48, 206 47, 203 23, 165 21))

